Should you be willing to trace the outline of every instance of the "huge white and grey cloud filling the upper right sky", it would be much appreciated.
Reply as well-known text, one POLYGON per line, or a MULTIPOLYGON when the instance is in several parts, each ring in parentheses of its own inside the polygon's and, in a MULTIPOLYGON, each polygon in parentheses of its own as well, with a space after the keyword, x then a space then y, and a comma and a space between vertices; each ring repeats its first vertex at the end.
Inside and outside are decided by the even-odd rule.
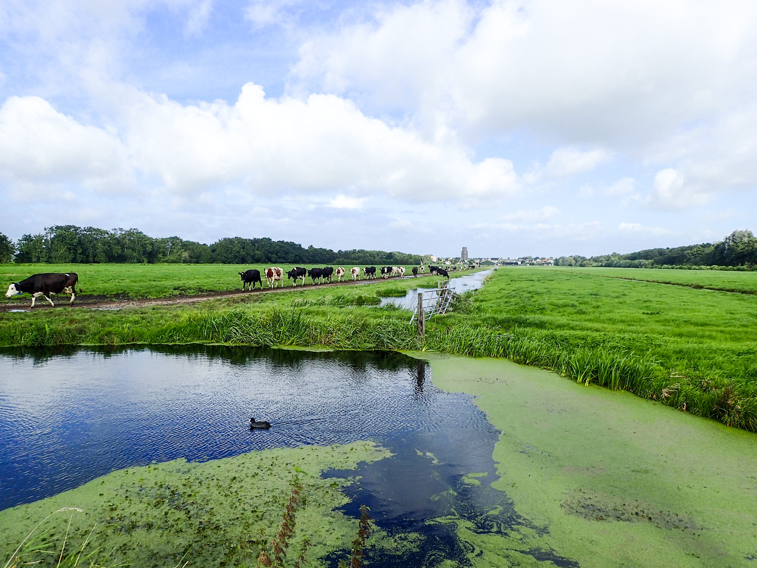
POLYGON ((701 194, 757 185, 755 72, 753 2, 440 0, 313 36, 291 83, 410 113, 428 133, 556 141, 567 149, 547 176, 621 153, 701 194), (571 149, 584 146, 606 149, 571 149))

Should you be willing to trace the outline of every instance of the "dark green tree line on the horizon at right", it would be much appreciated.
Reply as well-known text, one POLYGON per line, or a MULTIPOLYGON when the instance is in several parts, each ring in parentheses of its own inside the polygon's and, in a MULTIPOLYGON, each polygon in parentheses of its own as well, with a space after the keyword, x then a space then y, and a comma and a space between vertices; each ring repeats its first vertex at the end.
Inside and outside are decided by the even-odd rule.
POLYGON ((562 267, 743 267, 757 268, 757 238, 752 231, 736 230, 719 242, 687 245, 675 248, 649 248, 646 251, 628 254, 605 254, 597 257, 582 257, 574 254, 559 257, 555 266, 562 267))

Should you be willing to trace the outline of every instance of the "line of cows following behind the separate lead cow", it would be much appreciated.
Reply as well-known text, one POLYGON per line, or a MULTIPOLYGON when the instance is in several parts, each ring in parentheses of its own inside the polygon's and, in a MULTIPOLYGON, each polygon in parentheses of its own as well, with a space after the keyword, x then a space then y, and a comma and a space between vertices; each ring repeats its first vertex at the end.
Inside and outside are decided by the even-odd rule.
MULTIPOLYGON (((444 276, 449 278, 450 275, 447 270, 441 267, 429 267, 431 274, 438 276, 444 276)), ((381 267, 380 271, 382 278, 390 278, 392 276, 405 276, 405 267, 381 267)), ((419 267, 413 267, 413 276, 418 276, 425 272, 425 267, 421 264, 419 267)), ((241 276, 241 289, 253 290, 255 284, 260 284, 260 288, 263 288, 263 279, 260 275, 260 270, 251 268, 245 270, 245 272, 238 273, 241 276)), ((323 268, 303 268, 294 267, 288 272, 285 272, 280 267, 269 267, 263 270, 263 276, 266 277, 266 284, 269 288, 276 288, 276 286, 284 286, 284 275, 286 274, 288 280, 294 280, 292 286, 297 286, 298 279, 302 280, 302 286, 305 285, 305 278, 310 278, 313 282, 313 286, 316 284, 322 284, 323 282, 333 282, 334 276, 336 276, 337 282, 341 282, 341 279, 347 279, 347 271, 344 267, 323 267, 323 268), (317 280, 317 282, 316 282, 317 280)), ((350 276, 353 281, 360 280, 360 267, 350 268, 350 276)), ((363 278, 374 279, 376 277, 376 267, 363 268, 363 278)))

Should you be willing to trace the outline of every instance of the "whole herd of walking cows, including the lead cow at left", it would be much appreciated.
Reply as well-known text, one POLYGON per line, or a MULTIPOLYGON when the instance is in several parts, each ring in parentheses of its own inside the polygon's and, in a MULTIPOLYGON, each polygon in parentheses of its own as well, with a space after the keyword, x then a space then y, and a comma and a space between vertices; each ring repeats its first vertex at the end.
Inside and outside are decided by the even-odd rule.
MULTIPOLYGON (((444 270, 441 267, 429 267, 429 269, 431 274, 444 276, 446 278, 450 277, 447 270, 444 270)), ((379 273, 381 273, 382 278, 390 278, 392 276, 400 276, 400 278, 403 278, 405 276, 405 267, 381 267, 379 273)), ((422 273, 425 273, 425 267, 422 264, 420 268, 413 267, 413 276, 418 276, 418 274, 422 273)), ((276 288, 277 285, 284 286, 285 273, 281 268, 269 267, 266 268, 266 270, 263 270, 263 274, 266 276, 266 283, 269 288, 276 288)), ((312 279, 313 285, 316 284, 316 280, 319 284, 322 284, 323 282, 332 282, 334 276, 336 276, 337 282, 341 282, 342 278, 346 279, 346 270, 344 270, 344 267, 338 267, 337 269, 334 269, 334 267, 311 268, 310 270, 302 267, 294 267, 289 270, 286 275, 287 279, 294 280, 294 286, 297 286, 298 279, 302 280, 304 286, 306 276, 312 279)), ((260 284, 261 289, 263 288, 263 281, 260 278, 260 270, 251 268, 245 272, 240 272, 239 276, 241 276, 242 290, 245 289, 245 286, 248 286, 248 289, 250 290, 254 289, 256 282, 260 284)), ((352 276, 354 281, 360 280, 360 267, 350 268, 350 276, 352 276)), ((362 276, 365 279, 374 279, 376 277, 376 267, 363 268, 362 276)), ((51 306, 55 306, 51 299, 51 295, 55 294, 70 294, 71 302, 73 302, 73 299, 76 298, 77 282, 79 282, 79 276, 73 272, 66 274, 34 274, 20 282, 13 282, 8 286, 8 292, 5 292, 5 296, 11 298, 11 296, 20 295, 26 292, 27 294, 32 295, 32 307, 34 307, 34 302, 39 296, 44 296, 45 300, 50 302, 51 306)))

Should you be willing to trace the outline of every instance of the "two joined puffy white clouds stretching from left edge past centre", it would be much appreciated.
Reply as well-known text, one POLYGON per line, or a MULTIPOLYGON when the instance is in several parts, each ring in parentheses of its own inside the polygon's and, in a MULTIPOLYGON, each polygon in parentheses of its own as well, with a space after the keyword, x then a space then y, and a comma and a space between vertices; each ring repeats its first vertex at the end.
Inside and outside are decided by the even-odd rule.
POLYGON ((467 203, 519 190, 512 162, 474 163, 459 144, 427 142, 335 95, 265 98, 248 83, 234 105, 182 105, 132 91, 116 133, 83 126, 42 98, 9 98, 2 109, 0 166, 32 182, 104 186, 133 167, 185 196, 243 186, 259 195, 346 189, 353 200, 383 193, 467 203))

